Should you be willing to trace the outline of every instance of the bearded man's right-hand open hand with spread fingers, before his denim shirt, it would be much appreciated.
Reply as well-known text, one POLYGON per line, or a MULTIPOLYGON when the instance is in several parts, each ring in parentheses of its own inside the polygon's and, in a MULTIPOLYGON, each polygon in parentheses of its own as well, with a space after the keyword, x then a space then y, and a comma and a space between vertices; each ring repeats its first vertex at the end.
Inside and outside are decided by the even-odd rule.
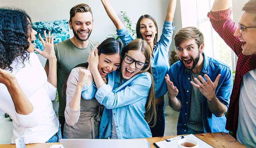
POLYGON ((212 80, 209 78, 209 76, 207 76, 206 74, 204 74, 204 77, 206 78, 207 82, 204 80, 204 78, 202 76, 198 76, 198 78, 201 80, 201 82, 197 79, 194 78, 195 82, 197 84, 195 84, 193 81, 190 81, 190 83, 195 86, 196 88, 198 88, 200 90, 200 92, 202 93, 202 95, 208 100, 208 101, 212 101, 213 99, 216 98, 215 95, 215 89, 219 83, 220 80, 220 76, 221 74, 219 74, 215 81, 212 82, 212 80))

